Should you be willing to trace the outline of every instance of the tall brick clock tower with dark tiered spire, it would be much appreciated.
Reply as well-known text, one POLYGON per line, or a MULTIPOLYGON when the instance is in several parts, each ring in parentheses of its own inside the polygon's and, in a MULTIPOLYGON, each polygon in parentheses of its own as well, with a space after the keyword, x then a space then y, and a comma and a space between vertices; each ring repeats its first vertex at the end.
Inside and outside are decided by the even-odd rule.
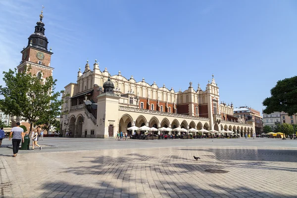
POLYGON ((45 24, 42 22, 43 10, 40 21, 36 23, 35 31, 28 38, 28 46, 22 53, 22 61, 17 66, 18 72, 23 72, 25 67, 30 67, 28 72, 40 78, 52 76, 53 68, 50 67, 51 49, 48 51, 48 38, 45 36, 45 24))

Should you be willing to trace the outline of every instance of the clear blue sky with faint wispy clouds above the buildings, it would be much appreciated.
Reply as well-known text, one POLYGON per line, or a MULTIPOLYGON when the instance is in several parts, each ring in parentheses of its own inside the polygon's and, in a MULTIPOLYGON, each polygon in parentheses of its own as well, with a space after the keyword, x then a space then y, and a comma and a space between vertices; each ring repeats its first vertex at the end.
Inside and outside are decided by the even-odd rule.
POLYGON ((214 74, 220 101, 262 112, 277 81, 297 75, 296 0, 0 0, 0 85, 42 5, 56 91, 97 58, 101 71, 176 92, 205 90, 214 74))

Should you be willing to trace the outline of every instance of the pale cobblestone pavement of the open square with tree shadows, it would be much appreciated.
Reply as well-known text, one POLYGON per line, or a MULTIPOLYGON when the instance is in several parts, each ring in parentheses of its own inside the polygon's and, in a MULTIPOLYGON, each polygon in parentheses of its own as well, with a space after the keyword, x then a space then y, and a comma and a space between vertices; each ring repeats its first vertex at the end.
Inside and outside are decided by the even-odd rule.
MULTIPOLYGON (((113 148, 120 144, 131 144, 129 141, 108 143, 113 148)), ((162 148, 130 146, 130 148, 101 150, 31 153, 19 151, 17 157, 1 154, 1 196, 5 198, 297 197, 296 147, 263 147, 261 144, 257 147, 248 145, 174 147, 174 143, 177 142, 172 141, 171 147, 162 148), (193 155, 200 156, 201 159, 196 161, 193 155), (205 172, 207 169, 228 172, 209 173, 205 172)))

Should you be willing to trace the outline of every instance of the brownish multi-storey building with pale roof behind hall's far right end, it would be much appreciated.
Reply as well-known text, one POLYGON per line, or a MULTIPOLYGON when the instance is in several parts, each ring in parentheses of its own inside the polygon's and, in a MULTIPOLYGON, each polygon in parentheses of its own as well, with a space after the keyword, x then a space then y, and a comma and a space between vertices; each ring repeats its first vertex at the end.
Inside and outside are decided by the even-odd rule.
POLYGON ((255 123, 255 133, 259 135, 263 132, 263 120, 260 111, 247 106, 241 106, 234 109, 234 116, 246 121, 251 117, 255 123))

